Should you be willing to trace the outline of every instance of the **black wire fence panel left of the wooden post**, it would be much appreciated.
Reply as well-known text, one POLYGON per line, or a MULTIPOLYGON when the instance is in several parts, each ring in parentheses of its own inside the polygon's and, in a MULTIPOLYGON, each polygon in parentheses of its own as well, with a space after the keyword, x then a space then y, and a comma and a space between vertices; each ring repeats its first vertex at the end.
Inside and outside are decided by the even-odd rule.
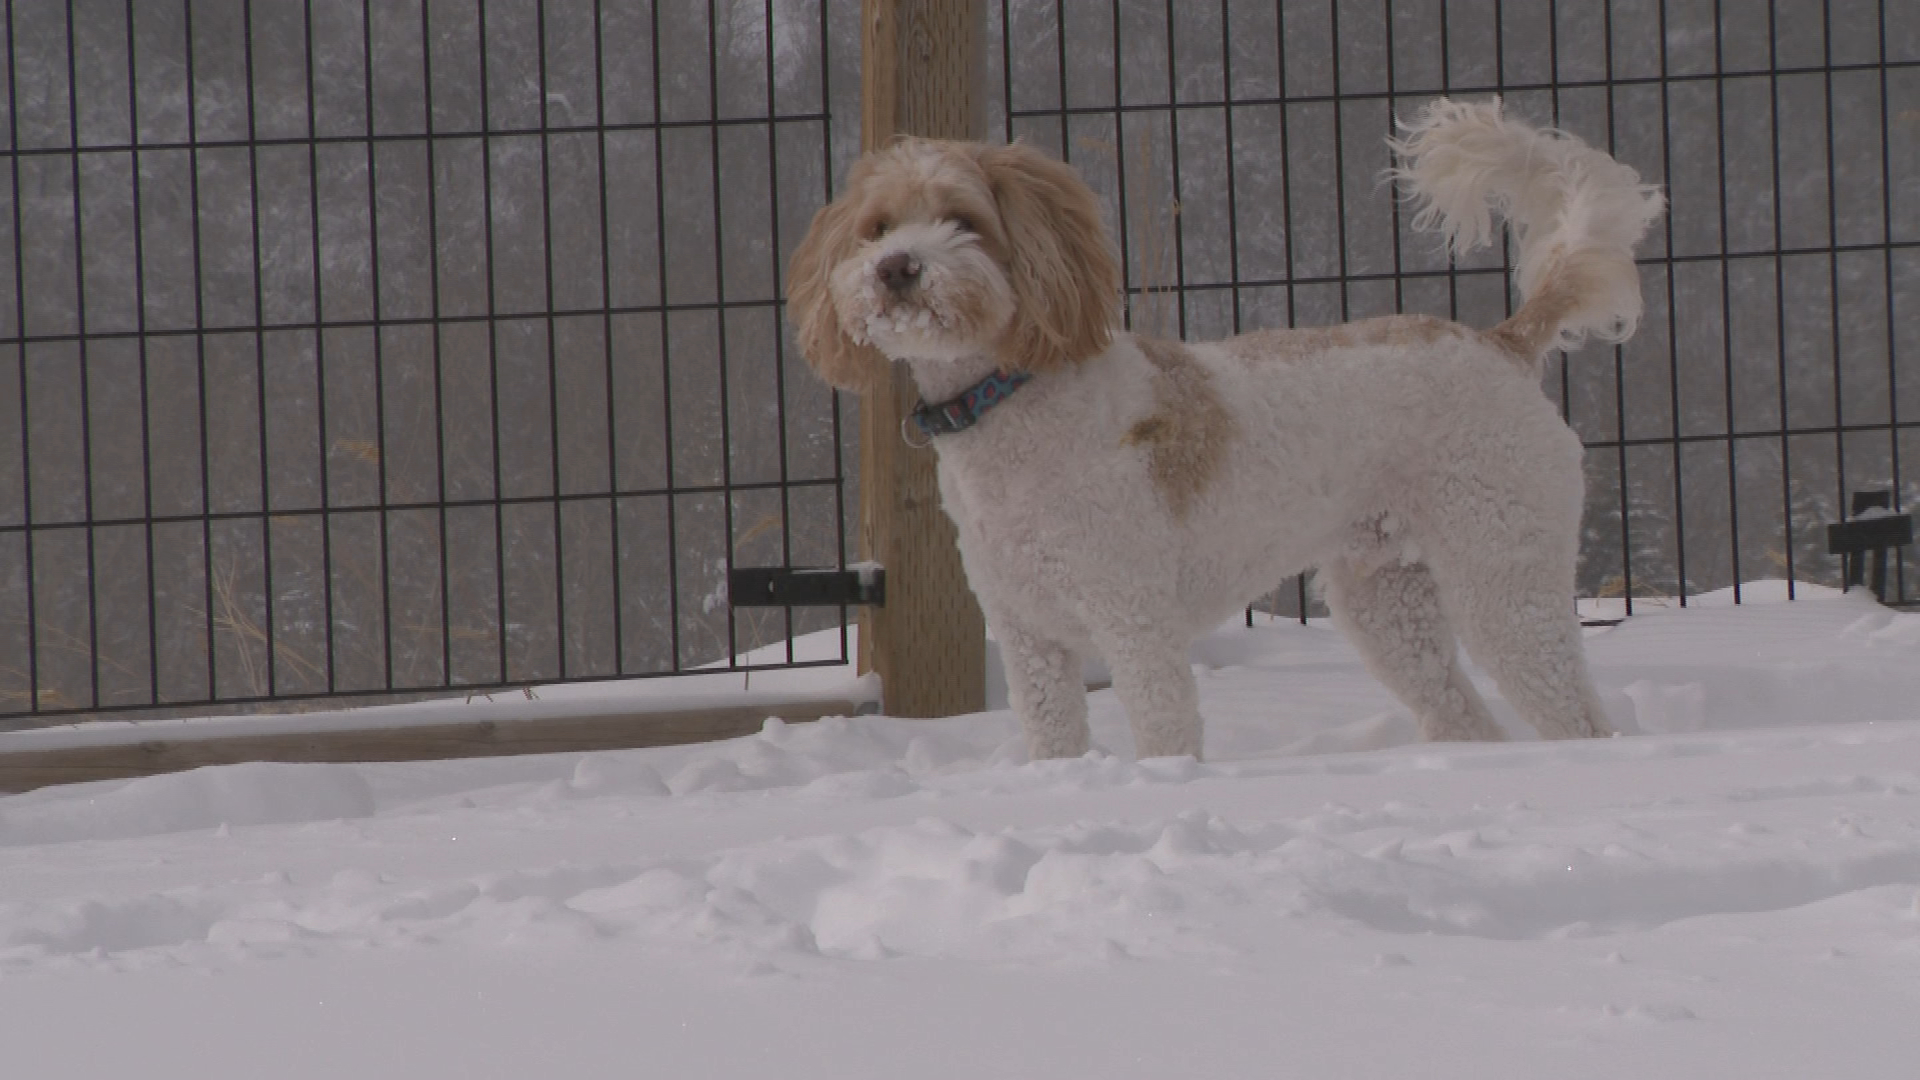
POLYGON ((835 625, 722 590, 845 546, 780 329, 828 37, 764 0, 6 4, 0 713, 835 625))

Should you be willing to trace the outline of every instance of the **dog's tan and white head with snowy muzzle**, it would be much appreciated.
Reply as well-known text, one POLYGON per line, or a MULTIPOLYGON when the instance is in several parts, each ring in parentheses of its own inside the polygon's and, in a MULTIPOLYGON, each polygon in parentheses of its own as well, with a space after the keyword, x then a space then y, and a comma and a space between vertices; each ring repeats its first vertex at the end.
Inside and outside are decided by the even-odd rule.
POLYGON ((862 158, 793 252, 787 309, 828 382, 991 352, 1043 371, 1104 350, 1119 265, 1079 175, 1039 150, 904 138, 862 158))

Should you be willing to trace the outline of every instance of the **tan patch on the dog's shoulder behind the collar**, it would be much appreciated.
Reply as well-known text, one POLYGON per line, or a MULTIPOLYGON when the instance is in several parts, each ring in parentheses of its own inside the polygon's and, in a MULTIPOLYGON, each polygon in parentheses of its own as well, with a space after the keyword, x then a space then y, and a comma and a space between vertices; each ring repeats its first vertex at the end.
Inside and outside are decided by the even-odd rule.
POLYGON ((1213 377, 1179 342, 1135 336, 1154 365, 1154 411, 1127 429, 1123 446, 1146 448, 1146 473, 1173 517, 1185 519, 1227 459, 1236 425, 1213 377))

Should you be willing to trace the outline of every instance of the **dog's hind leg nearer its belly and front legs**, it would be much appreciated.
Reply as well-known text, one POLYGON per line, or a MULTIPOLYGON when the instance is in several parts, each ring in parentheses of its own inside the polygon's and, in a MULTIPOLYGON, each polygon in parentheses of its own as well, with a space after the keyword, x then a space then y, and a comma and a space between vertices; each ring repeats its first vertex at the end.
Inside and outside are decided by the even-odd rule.
POLYGON ((1440 590, 1423 565, 1361 571, 1346 559, 1321 567, 1332 621, 1430 740, 1505 738, 1459 667, 1440 590))

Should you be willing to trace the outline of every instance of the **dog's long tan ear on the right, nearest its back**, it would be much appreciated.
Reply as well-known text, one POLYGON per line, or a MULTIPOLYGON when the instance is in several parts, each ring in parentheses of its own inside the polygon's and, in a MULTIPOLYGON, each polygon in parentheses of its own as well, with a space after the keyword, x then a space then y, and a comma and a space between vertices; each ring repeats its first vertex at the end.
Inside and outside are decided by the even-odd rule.
POLYGON ((1031 146, 983 146, 977 160, 1000 209, 1018 300, 1006 359, 1039 371, 1104 350, 1119 321, 1119 261, 1100 202, 1079 173, 1031 146))

